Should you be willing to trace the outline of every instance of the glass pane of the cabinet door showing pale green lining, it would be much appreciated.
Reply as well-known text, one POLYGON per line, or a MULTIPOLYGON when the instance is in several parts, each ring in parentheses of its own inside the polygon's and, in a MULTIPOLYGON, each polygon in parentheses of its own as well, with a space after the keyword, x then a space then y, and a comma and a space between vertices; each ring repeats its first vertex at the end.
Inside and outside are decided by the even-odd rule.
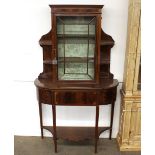
POLYGON ((94 80, 95 39, 95 17, 57 17, 59 80, 94 80))

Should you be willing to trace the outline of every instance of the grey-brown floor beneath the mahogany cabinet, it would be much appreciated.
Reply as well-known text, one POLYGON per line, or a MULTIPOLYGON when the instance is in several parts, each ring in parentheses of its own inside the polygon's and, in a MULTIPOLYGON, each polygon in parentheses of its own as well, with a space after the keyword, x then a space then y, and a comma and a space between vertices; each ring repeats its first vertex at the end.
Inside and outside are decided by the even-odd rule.
MULTIPOLYGON (((52 138, 23 137, 14 138, 14 155, 95 155, 94 142, 73 143, 58 140, 58 153, 54 153, 52 138)), ((140 152, 120 152, 116 140, 100 139, 96 155, 140 155, 140 152)))

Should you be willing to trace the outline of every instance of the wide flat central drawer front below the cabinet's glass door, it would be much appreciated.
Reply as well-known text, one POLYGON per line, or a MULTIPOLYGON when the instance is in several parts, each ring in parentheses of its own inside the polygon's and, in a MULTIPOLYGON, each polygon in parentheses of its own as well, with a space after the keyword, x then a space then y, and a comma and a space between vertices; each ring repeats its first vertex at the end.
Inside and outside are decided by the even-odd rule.
POLYGON ((95 105, 96 92, 55 92, 58 105, 95 105))

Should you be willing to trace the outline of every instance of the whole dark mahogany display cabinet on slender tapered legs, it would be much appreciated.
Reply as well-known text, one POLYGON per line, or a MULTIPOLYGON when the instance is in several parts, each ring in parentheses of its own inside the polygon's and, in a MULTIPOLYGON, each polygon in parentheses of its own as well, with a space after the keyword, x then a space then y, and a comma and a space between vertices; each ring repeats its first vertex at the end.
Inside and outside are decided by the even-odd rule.
POLYGON ((110 73, 111 36, 101 28, 103 5, 50 5, 51 30, 39 41, 43 48, 43 72, 35 80, 41 136, 43 129, 57 139, 94 138, 95 152, 99 135, 112 135, 114 104, 118 81, 110 73), (44 126, 42 104, 52 105, 53 126, 44 126), (98 127, 99 107, 111 104, 110 126, 98 127), (56 125, 56 106, 96 107, 95 127, 61 127, 56 125))

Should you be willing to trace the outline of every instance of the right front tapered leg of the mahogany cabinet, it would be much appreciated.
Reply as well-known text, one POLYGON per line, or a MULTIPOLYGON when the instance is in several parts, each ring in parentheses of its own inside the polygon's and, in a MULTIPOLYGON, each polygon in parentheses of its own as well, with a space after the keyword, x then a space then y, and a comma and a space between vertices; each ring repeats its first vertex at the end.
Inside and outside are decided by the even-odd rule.
POLYGON ((96 121, 95 121, 95 153, 97 153, 97 141, 98 141, 98 119, 99 119, 99 105, 96 105, 96 121))

